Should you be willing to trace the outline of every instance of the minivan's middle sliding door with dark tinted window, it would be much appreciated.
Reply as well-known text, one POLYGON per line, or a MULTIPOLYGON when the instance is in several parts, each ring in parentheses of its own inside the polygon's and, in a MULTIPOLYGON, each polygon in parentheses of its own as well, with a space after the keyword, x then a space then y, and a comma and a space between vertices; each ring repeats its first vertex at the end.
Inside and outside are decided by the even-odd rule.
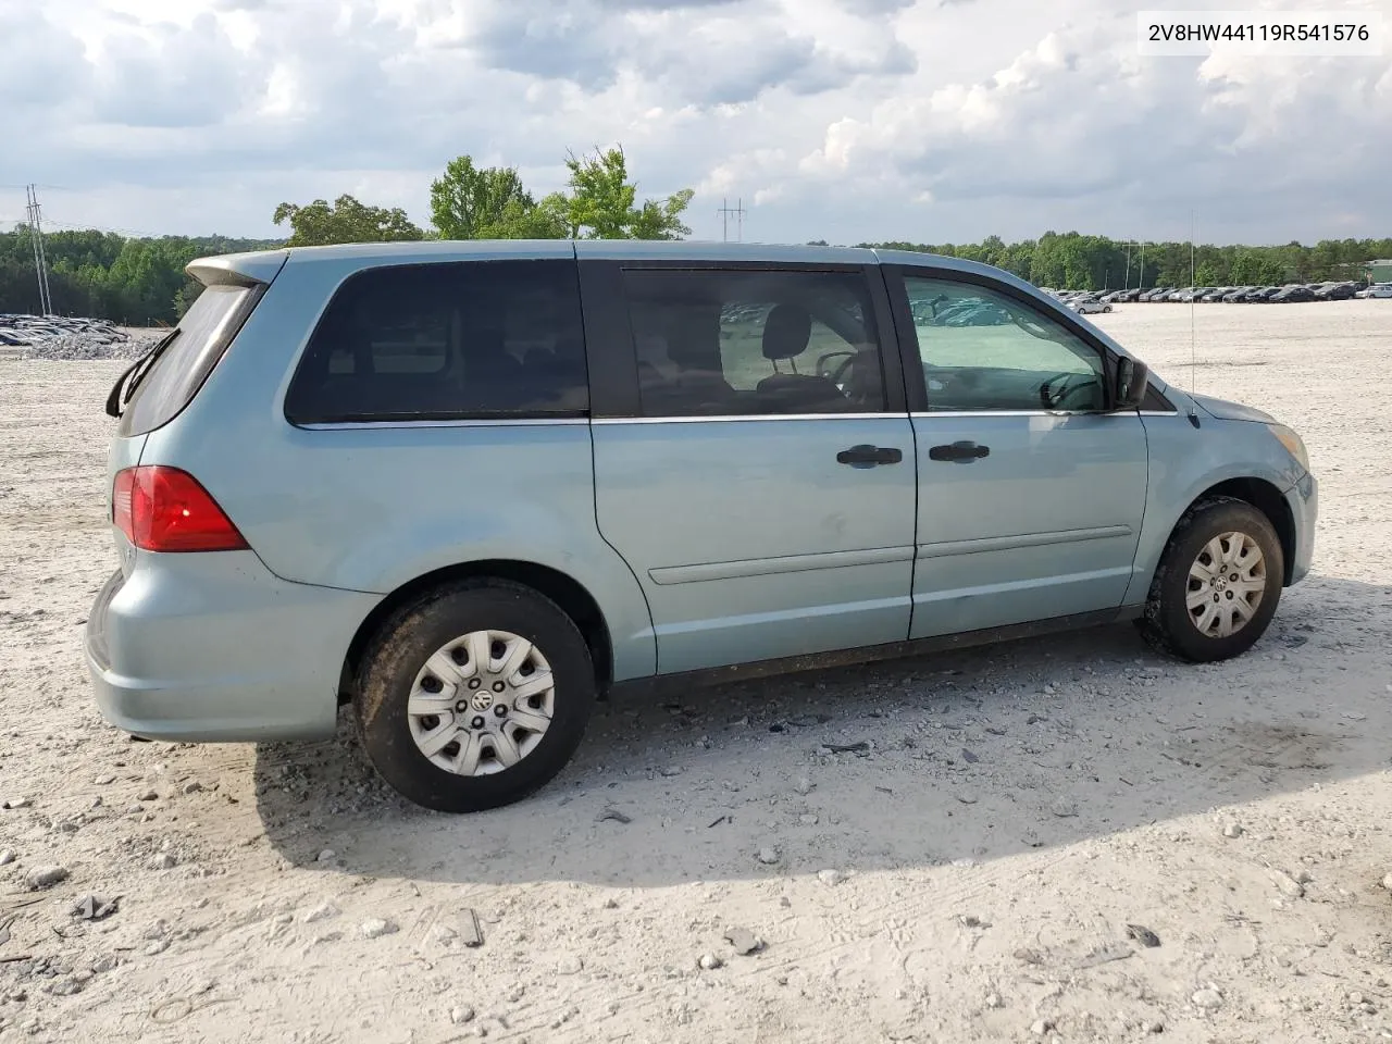
POLYGON ((592 383, 624 358, 636 400, 596 411, 599 528, 647 594, 658 671, 902 642, 917 479, 874 269, 582 253, 582 280, 592 383))

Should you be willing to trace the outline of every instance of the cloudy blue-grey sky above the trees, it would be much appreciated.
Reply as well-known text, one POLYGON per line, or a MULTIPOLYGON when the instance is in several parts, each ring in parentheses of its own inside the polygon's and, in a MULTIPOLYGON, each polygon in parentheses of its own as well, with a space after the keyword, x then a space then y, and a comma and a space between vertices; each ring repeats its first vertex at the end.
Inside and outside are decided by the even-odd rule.
MULTIPOLYGON (((702 239, 727 199, 761 242, 1392 235, 1392 43, 1143 57, 1161 6, 0 0, 0 227, 29 182, 49 228, 271 237, 344 192, 427 223, 454 156, 540 198, 621 143, 642 196, 696 191, 702 239)), ((1244 7, 1392 32, 1392 0, 1244 7)))

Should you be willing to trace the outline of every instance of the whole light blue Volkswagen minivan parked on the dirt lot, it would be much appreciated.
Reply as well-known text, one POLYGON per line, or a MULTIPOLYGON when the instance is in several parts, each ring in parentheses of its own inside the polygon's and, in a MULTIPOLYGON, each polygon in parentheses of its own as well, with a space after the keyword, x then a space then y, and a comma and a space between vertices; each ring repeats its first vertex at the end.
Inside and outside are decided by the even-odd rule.
POLYGON ((515 802, 621 686, 1133 619, 1257 642, 1317 484, 1009 273, 922 253, 412 242, 210 258, 111 390, 88 621, 139 736, 323 739, 515 802))

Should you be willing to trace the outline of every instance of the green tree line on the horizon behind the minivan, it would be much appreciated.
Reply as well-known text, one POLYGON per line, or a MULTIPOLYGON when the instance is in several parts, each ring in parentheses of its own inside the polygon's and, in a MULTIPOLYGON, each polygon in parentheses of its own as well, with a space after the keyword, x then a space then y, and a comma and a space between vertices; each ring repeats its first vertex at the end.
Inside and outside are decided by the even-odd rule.
MULTIPOLYGON (((273 221, 288 226, 280 239, 223 235, 127 238, 96 230, 45 237, 53 309, 60 315, 122 324, 175 323, 199 292, 184 274, 195 258, 277 246, 412 239, 682 239, 692 189, 639 199, 622 146, 569 155, 567 185, 537 198, 514 167, 480 167, 469 156, 451 160, 430 184, 430 227, 401 207, 335 200, 281 203, 273 221)), ((813 241, 825 245, 825 241, 813 241)), ((1374 258, 1392 258, 1392 239, 1322 239, 1314 246, 1215 246, 1130 242, 1104 235, 1045 232, 1006 244, 857 244, 941 253, 984 262, 1036 285, 1058 290, 1313 283, 1359 278, 1374 258)), ((38 312, 33 251, 26 226, 0 232, 0 312, 38 312)))

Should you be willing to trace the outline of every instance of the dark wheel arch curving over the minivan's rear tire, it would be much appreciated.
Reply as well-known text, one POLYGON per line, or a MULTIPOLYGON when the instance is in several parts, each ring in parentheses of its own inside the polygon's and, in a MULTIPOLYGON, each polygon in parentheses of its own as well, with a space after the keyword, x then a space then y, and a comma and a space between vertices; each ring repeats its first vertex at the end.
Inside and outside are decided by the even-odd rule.
POLYGON ((548 565, 514 558, 489 558, 433 569, 383 596, 381 601, 358 625, 358 631, 348 643, 338 683, 340 703, 348 703, 352 699, 358 686, 358 672, 362 667, 363 651, 387 617, 436 587, 458 580, 480 578, 519 583, 560 606, 574 621, 575 626, 579 628, 585 643, 589 646, 590 658, 594 663, 594 683, 601 696, 608 690, 614 681, 614 642, 599 601, 585 585, 574 576, 548 565))

